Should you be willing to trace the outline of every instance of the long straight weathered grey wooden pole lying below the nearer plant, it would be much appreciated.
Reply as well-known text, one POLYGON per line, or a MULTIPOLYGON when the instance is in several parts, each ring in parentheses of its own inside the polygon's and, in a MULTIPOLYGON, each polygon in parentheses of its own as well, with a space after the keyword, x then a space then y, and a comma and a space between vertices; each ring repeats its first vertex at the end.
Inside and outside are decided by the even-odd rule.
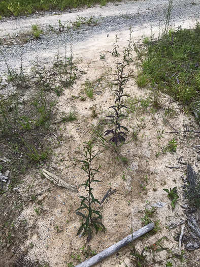
POLYGON ((128 235, 126 238, 122 239, 118 243, 112 245, 111 247, 103 250, 102 252, 98 253, 97 255, 93 256, 92 258, 80 263, 76 267, 90 267, 96 264, 99 261, 102 261, 106 257, 116 253, 118 250, 122 249, 123 247, 127 246, 132 241, 140 238, 143 234, 151 231, 154 228, 154 223, 149 223, 143 228, 139 229, 138 231, 128 235))

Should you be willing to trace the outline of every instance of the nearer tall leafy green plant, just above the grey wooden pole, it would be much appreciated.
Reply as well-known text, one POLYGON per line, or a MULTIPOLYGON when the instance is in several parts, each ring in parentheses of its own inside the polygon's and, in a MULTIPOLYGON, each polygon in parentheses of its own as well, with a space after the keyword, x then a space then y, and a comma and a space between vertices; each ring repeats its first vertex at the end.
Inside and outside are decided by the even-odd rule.
POLYGON ((101 204, 98 199, 94 198, 93 194, 92 194, 92 190, 93 188, 91 187, 91 184, 93 182, 101 182, 98 180, 94 180, 94 175, 97 172, 100 172, 99 169, 101 169, 101 164, 99 164, 98 168, 94 169, 92 168, 92 161, 94 160, 94 158, 96 157, 97 154, 94 154, 95 151, 92 151, 92 147, 94 145, 91 143, 91 141, 86 143, 86 147, 84 149, 84 157, 85 160, 81 160, 80 162, 82 162, 81 164, 81 169, 83 169, 88 176, 87 181, 80 185, 80 186, 84 186, 85 190, 87 191, 87 196, 80 196, 80 198, 82 198, 81 201, 81 205, 80 207, 76 210, 76 214, 82 217, 82 222, 81 222, 81 226, 77 232, 77 235, 79 235, 82 231, 83 231, 83 235, 88 234, 87 237, 87 243, 91 240, 91 230, 92 230, 92 226, 95 228, 96 233, 101 230, 102 228, 104 228, 105 230, 105 226, 103 223, 99 222, 99 220, 102 219, 102 214, 100 211, 97 211, 93 208, 93 206, 95 206, 96 203, 98 203, 99 205, 101 204), (84 215, 83 213, 79 212, 80 210, 87 210, 87 215, 84 215))

